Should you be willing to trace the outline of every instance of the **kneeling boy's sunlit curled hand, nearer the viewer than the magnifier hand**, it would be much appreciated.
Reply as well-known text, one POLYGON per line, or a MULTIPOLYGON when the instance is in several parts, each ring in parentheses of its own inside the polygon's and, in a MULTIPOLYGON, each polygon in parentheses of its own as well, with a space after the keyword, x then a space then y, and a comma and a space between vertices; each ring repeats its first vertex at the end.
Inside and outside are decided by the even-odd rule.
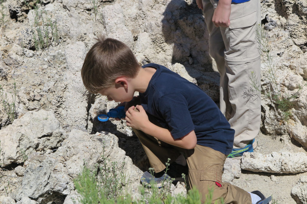
POLYGON ((146 124, 150 123, 148 120, 148 116, 146 114, 146 111, 144 110, 143 106, 137 105, 131 106, 127 111, 126 111, 126 121, 127 125, 130 126, 131 128, 135 128, 138 130, 143 130, 146 128, 146 124), (138 111, 134 109, 138 109, 138 111))

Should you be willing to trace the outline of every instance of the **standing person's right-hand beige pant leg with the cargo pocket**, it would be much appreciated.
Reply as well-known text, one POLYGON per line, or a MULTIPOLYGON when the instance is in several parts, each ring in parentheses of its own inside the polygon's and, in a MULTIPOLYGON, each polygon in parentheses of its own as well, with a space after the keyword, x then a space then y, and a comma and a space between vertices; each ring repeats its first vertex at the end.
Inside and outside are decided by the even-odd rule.
MULTIPOLYGON (((215 1, 216 0, 212 0, 215 1)), ((260 88, 260 53, 256 39, 260 23, 260 1, 231 4, 230 26, 220 28, 225 43, 231 113, 228 121, 235 130, 234 148, 243 148, 258 135, 261 124, 261 95, 251 85, 252 75, 260 88)))

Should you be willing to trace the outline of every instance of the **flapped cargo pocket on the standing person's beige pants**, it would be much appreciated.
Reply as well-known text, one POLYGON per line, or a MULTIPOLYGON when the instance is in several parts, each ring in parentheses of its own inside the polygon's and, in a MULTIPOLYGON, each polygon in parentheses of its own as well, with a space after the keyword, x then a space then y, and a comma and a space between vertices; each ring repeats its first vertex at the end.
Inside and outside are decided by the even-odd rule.
POLYGON ((230 19, 229 45, 233 50, 241 50, 256 44, 257 11, 230 19))

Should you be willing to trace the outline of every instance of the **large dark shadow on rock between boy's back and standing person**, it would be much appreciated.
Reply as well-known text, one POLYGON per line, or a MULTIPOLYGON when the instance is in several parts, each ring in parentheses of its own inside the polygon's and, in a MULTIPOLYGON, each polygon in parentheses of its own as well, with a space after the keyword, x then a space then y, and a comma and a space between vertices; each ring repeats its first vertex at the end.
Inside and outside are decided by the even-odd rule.
POLYGON ((220 75, 212 69, 209 33, 201 9, 195 1, 188 4, 184 0, 172 0, 162 15, 164 40, 174 45, 172 64, 184 65, 197 85, 218 103, 220 75))

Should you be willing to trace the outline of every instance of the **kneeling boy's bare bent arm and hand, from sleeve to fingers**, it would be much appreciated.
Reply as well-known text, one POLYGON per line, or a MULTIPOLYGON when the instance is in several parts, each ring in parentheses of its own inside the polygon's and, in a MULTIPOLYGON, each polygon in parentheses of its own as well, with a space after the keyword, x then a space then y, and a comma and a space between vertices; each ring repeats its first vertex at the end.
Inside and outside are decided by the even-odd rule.
POLYGON ((146 134, 177 147, 193 149, 196 146, 197 139, 194 130, 179 139, 173 139, 173 136, 168 129, 161 128, 148 120, 146 111, 142 106, 136 106, 139 112, 134 111, 134 108, 135 107, 132 106, 126 112, 127 125, 130 127, 141 130, 146 134))

